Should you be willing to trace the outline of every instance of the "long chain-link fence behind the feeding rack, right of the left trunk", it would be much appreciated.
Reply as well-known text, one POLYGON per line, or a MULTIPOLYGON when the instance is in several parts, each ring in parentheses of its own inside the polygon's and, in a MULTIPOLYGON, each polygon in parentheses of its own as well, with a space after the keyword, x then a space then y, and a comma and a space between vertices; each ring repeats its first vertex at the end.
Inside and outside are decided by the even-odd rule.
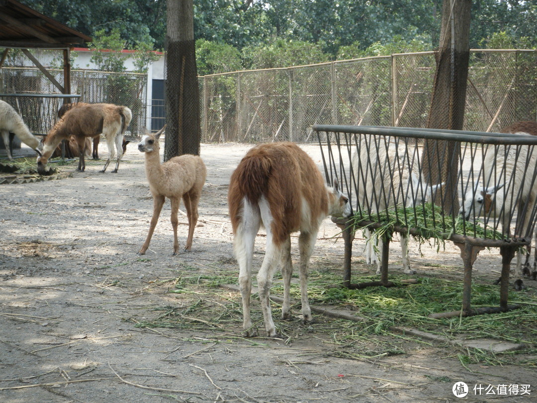
MULTIPOLYGON (((202 142, 315 141, 314 124, 425 127, 433 52, 200 77, 202 142)), ((470 51, 465 129, 537 118, 537 51, 470 51)))

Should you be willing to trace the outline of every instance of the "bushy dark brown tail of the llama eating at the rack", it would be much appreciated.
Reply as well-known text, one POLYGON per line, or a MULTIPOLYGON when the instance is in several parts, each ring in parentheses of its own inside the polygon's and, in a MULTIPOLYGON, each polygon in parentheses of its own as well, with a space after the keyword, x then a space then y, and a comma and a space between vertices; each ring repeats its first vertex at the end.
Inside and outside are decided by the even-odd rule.
POLYGON ((267 157, 246 155, 231 175, 228 206, 234 232, 241 221, 243 200, 257 206, 259 199, 267 193, 270 171, 271 162, 267 157))

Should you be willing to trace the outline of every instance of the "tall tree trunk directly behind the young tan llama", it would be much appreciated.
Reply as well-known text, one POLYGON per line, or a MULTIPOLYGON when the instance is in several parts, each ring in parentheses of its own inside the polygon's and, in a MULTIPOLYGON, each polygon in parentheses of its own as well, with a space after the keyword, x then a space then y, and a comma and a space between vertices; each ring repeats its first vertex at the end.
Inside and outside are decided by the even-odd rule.
POLYGON ((193 0, 168 0, 166 4, 164 161, 199 154, 201 137, 193 0))

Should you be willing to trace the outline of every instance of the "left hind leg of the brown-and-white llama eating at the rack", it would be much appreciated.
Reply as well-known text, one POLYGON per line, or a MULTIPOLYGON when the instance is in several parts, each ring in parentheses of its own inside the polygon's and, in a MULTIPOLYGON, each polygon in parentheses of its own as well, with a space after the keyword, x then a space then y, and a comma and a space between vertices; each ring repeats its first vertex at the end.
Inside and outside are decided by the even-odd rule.
POLYGON ((239 267, 238 284, 241 289, 243 329, 246 337, 258 336, 257 329, 252 327, 250 296, 252 293, 253 245, 260 222, 259 210, 244 200, 242 217, 234 236, 233 249, 239 267))

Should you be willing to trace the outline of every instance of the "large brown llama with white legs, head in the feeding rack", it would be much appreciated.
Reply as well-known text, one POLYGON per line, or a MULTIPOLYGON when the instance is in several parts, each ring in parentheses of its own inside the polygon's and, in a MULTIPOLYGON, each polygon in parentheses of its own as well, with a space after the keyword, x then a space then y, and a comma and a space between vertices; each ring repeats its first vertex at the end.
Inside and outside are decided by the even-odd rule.
POLYGON ((250 293, 253 246, 261 225, 266 229, 266 250, 257 283, 267 335, 280 337, 274 327, 269 303, 272 278, 280 261, 284 278, 282 319, 291 318, 290 234, 294 231, 300 231, 302 320, 312 322, 307 277, 318 229, 329 214, 337 217, 351 214, 349 200, 339 191, 337 181, 333 188, 328 188, 313 160, 294 143, 262 144, 250 149, 231 175, 228 204, 239 265, 238 282, 246 336, 258 335, 250 318, 250 293))

